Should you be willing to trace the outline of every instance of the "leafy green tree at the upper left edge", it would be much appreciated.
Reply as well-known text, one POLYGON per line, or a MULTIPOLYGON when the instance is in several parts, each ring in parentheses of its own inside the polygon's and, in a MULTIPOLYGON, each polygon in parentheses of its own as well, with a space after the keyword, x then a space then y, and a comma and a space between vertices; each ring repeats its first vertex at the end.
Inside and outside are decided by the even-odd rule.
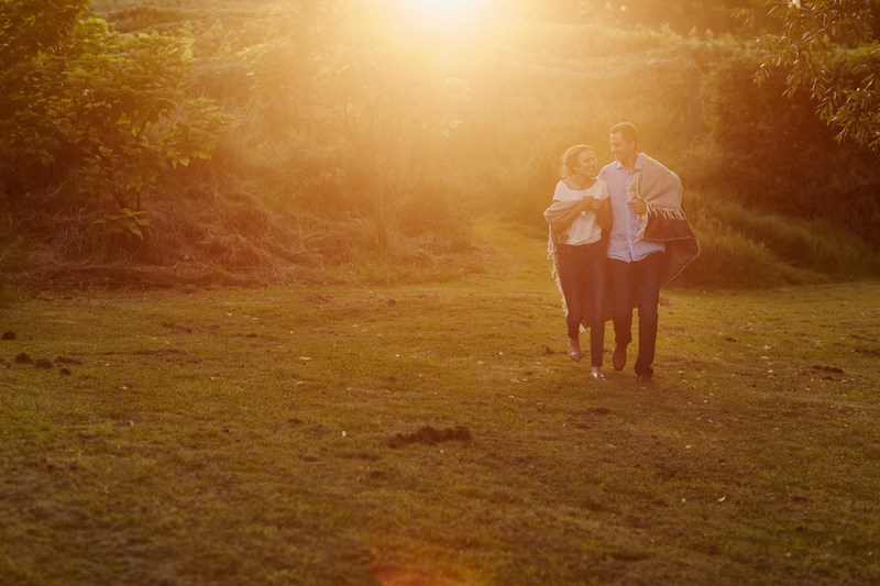
POLYGON ((108 234, 141 239, 145 222, 131 219, 143 197, 163 175, 208 158, 227 117, 186 91, 190 38, 119 34, 84 2, 53 7, 3 4, 4 197, 19 209, 87 210, 108 234))

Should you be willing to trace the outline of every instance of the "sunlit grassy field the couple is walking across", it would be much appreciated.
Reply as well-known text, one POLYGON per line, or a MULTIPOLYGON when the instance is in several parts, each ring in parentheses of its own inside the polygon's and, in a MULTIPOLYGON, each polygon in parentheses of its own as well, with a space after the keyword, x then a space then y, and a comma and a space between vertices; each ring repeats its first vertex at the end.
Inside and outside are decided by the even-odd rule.
POLYGON ((880 285, 667 289, 642 388, 482 237, 454 284, 0 308, 0 582, 880 582, 880 285))

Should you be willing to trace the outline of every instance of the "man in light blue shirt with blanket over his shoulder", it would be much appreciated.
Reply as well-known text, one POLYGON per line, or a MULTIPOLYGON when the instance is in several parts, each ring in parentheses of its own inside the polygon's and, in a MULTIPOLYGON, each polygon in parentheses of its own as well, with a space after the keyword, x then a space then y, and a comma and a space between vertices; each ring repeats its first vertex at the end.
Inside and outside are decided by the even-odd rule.
POLYGON ((681 208, 681 180, 662 164, 638 151, 638 132, 628 122, 615 124, 609 144, 614 163, 598 178, 608 184, 612 230, 608 275, 612 283, 615 349, 612 365, 626 366, 632 341, 632 308, 639 310, 636 376, 651 385, 657 346, 660 286, 678 275, 700 252, 681 208))

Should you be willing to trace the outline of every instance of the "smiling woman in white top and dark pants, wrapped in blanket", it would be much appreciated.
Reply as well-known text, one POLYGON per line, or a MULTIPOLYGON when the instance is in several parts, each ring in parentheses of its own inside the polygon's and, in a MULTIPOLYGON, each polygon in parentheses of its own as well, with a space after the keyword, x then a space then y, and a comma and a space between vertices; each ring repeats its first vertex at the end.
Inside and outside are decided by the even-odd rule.
POLYGON ((550 256, 562 289, 569 329, 569 356, 580 362, 581 324, 590 327, 593 378, 602 380, 605 342, 605 246, 603 231, 610 228, 608 186, 595 177, 593 147, 579 144, 562 155, 562 179, 543 217, 550 224, 550 256))

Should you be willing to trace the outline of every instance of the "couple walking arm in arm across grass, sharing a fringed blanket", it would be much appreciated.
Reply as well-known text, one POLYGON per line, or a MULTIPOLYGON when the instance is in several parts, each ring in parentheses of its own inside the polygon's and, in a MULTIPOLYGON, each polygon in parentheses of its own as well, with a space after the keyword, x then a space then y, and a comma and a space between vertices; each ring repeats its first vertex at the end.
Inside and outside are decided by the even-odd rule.
POLYGON ((635 371, 639 383, 650 385, 660 286, 700 248, 681 207, 678 175, 638 151, 638 132, 628 122, 610 129, 609 144, 615 161, 598 176, 591 146, 572 146, 562 155, 562 179, 544 211, 549 254, 562 290, 571 358, 581 360, 581 325, 588 328, 591 374, 605 378, 602 354, 610 316, 612 365, 622 371, 638 308, 635 371))

